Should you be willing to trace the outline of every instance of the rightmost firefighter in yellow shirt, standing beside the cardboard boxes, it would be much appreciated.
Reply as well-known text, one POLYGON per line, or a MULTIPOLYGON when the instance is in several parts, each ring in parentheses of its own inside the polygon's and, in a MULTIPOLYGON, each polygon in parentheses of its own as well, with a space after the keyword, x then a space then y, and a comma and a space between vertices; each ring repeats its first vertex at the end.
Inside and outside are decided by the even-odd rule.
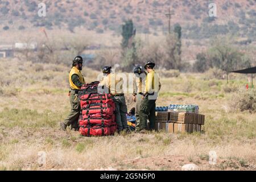
POLYGON ((149 129, 155 128, 155 101, 158 97, 161 84, 159 76, 154 70, 155 63, 151 60, 147 61, 144 68, 147 70, 145 81, 145 90, 142 96, 141 106, 139 108, 139 132, 146 133, 147 118, 150 122, 149 129))

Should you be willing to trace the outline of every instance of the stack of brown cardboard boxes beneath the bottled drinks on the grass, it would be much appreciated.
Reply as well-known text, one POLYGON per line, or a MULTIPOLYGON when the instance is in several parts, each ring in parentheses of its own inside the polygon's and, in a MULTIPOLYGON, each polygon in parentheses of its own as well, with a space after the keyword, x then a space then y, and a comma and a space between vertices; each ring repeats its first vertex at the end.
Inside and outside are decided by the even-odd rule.
POLYGON ((205 115, 175 111, 156 112, 155 130, 168 133, 200 132, 204 125, 205 115))

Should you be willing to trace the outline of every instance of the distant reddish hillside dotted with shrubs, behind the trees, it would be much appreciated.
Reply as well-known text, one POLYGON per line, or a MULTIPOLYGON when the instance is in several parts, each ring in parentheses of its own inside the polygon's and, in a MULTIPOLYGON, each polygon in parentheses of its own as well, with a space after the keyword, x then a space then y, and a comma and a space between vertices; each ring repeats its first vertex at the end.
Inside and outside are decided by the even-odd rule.
POLYGON ((183 37, 204 39, 219 34, 238 34, 256 38, 256 1, 234 0, 214 1, 217 18, 209 18, 208 5, 212 1, 189 0, 51 0, 0 1, 1 31, 24 30, 30 27, 47 29, 85 27, 98 33, 106 30, 120 32, 120 25, 126 19, 133 19, 138 32, 155 34, 166 32, 169 7, 172 27, 180 23, 183 37), (47 7, 46 17, 38 16, 38 3, 47 7))

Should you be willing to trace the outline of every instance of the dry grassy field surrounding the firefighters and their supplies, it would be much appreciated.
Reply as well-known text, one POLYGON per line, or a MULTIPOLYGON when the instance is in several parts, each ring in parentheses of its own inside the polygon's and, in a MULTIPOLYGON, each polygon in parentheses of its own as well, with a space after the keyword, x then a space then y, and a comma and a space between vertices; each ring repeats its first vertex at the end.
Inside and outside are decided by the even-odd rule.
MULTIPOLYGON (((256 169, 256 114, 237 110, 246 91, 246 76, 231 80, 211 78, 210 73, 181 73, 163 77, 157 105, 196 104, 205 114, 203 133, 121 134, 81 137, 60 131, 59 122, 70 109, 69 67, 55 64, 0 61, 0 169, 154 169, 180 170, 188 163, 203 170, 256 169), (209 151, 217 164, 208 163, 209 151), (39 152, 46 152, 40 164, 39 152)), ((86 81, 99 72, 84 68, 86 81)), ((127 96, 129 109, 135 104, 127 96)))

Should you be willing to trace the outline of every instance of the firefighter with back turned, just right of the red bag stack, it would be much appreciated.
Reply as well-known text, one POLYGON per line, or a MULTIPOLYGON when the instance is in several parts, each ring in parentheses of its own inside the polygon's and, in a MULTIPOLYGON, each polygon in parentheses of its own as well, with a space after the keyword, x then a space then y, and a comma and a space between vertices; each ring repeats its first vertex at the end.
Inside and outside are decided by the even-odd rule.
POLYGON ((111 71, 112 67, 102 68, 102 72, 106 74, 106 77, 100 82, 99 86, 104 87, 105 93, 108 92, 112 95, 112 99, 115 103, 115 122, 118 125, 118 132, 129 132, 129 126, 127 125, 127 106, 125 103, 125 95, 123 94, 123 79, 117 74, 111 71))

